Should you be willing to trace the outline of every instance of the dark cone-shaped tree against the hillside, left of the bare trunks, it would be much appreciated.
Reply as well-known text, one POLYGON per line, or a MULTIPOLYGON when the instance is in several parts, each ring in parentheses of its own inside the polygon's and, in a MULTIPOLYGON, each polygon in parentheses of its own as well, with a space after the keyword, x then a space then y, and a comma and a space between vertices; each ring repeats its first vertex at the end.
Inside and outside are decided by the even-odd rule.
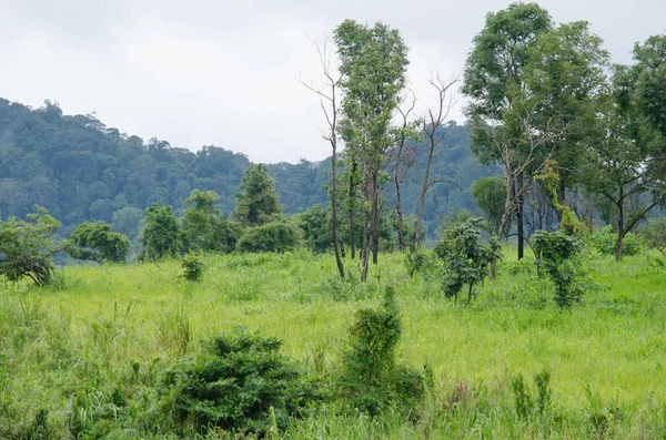
POLYGON ((248 167, 241 182, 241 193, 235 198, 236 207, 231 216, 244 225, 263 225, 282 213, 275 185, 263 164, 251 164, 248 167))

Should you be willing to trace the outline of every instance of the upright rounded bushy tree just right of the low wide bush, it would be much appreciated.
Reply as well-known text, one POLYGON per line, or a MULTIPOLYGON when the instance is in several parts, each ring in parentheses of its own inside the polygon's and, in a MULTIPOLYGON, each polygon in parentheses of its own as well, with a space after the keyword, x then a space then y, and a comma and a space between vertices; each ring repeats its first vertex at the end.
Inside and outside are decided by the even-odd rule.
POLYGON ((171 206, 152 205, 145 209, 143 228, 143 257, 160 259, 176 256, 183 248, 181 231, 171 206))

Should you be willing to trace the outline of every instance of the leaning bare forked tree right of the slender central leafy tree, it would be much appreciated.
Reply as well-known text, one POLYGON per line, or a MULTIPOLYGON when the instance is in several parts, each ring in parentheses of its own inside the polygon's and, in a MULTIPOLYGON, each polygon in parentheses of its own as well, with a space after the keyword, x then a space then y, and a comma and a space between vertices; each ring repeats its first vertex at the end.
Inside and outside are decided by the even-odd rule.
POLYGON ((452 185, 461 187, 457 183, 452 180, 443 177, 431 177, 431 166, 433 157, 435 157, 444 146, 444 137, 446 132, 442 124, 448 117, 451 109, 455 104, 453 95, 448 92, 455 83, 458 82, 457 75, 454 75, 448 81, 442 80, 440 74, 434 75, 430 83, 435 89, 437 95, 437 104, 434 109, 427 110, 427 115, 423 119, 423 132, 425 135, 425 142, 427 147, 427 155, 425 157, 425 171, 423 173, 423 183, 421 185, 421 194, 418 196, 418 211, 416 213, 416 231, 414 232, 414 242, 412 244, 412 252, 415 252, 421 242, 421 228, 423 226, 423 209, 425 206, 425 196, 431 186, 436 183, 450 183, 452 185))

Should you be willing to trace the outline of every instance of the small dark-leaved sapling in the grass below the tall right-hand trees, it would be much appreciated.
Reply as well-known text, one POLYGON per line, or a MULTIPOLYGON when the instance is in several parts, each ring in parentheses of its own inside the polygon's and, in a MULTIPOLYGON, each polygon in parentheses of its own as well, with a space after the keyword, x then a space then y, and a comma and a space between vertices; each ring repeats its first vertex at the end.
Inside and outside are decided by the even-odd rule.
POLYGON ((467 285, 467 303, 472 300, 474 285, 484 280, 488 275, 488 265, 496 260, 500 254, 500 243, 491 236, 487 243, 482 242, 483 219, 468 218, 462 223, 453 223, 444 228, 444 238, 435 246, 435 254, 444 264, 444 295, 457 296, 467 285))

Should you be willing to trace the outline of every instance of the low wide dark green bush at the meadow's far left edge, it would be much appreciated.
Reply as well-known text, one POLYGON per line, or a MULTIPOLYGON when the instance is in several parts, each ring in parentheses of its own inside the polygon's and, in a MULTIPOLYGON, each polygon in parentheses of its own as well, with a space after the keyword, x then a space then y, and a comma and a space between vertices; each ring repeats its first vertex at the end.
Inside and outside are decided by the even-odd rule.
POLYGON ((130 250, 130 239, 111 232, 111 225, 82 223, 77 226, 63 248, 77 259, 122 264, 130 250))

